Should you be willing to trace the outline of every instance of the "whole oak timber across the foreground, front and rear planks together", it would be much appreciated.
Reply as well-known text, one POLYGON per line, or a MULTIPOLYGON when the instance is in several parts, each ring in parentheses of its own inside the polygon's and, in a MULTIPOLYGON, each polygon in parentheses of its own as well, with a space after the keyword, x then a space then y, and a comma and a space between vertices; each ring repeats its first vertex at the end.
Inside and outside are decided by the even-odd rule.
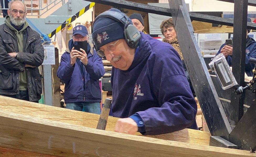
POLYGON ((0 96, 0 150, 5 154, 26 151, 28 157, 256 156, 249 151, 207 146, 210 134, 203 131, 184 129, 158 136, 135 136, 113 132, 114 117, 109 117, 108 131, 97 130, 98 119, 96 114, 0 96))

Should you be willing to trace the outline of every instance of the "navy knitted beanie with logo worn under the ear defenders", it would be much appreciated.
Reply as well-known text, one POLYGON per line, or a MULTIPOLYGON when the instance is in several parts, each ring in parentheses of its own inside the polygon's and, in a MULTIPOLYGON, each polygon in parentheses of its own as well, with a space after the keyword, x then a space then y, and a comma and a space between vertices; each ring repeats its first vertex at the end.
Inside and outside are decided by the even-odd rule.
MULTIPOLYGON (((116 8, 111 8, 108 11, 111 11, 111 14, 124 14, 116 8)), ((128 17, 127 20, 131 22, 128 17)), ((110 42, 124 39, 124 24, 109 17, 100 17, 93 24, 92 38, 96 49, 110 42)))

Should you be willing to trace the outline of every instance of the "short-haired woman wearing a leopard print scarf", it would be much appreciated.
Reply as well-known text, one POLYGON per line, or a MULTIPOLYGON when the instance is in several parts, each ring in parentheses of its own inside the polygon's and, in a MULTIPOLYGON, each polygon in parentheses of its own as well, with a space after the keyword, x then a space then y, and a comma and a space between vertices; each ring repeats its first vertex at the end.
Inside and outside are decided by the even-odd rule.
POLYGON ((179 44, 179 41, 178 41, 178 38, 177 38, 177 33, 176 33, 175 28, 174 28, 172 18, 164 20, 160 25, 160 29, 161 29, 161 32, 164 36, 163 42, 167 42, 167 43, 171 44, 173 46, 173 48, 178 52, 178 54, 180 56, 180 59, 183 62, 183 67, 184 67, 185 74, 186 74, 186 77, 187 77, 189 85, 190 85, 190 89, 191 89, 193 95, 195 96, 195 91, 194 91, 193 86, 191 84, 190 77, 189 77, 189 74, 188 74, 188 70, 187 70, 185 62, 183 60, 183 55, 182 55, 182 52, 181 52, 181 49, 180 49, 180 44, 179 44))

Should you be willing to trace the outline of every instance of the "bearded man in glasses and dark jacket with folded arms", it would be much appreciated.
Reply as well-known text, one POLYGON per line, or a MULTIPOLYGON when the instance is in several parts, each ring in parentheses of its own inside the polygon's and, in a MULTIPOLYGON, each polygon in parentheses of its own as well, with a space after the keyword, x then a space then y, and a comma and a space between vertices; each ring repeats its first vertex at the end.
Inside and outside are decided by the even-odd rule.
POLYGON ((8 16, 0 26, 0 95, 38 102, 44 60, 40 35, 26 22, 26 6, 20 0, 8 4, 8 16))

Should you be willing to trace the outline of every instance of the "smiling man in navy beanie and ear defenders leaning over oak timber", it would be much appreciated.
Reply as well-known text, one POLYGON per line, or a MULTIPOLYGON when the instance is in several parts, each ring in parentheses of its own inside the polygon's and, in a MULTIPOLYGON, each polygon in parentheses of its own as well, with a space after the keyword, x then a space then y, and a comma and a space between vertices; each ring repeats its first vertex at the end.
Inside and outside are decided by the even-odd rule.
POLYGON ((179 54, 170 44, 134 29, 115 8, 98 15, 93 24, 95 49, 113 65, 112 112, 122 118, 115 131, 155 135, 198 129, 197 105, 179 54))

